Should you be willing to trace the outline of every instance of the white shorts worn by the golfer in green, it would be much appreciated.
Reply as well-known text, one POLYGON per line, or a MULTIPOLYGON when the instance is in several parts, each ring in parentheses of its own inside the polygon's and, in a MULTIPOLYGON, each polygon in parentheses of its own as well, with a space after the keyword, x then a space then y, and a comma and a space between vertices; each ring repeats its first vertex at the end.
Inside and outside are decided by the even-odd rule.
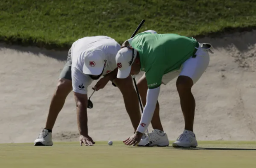
POLYGON ((191 56, 181 65, 179 70, 164 74, 162 83, 166 85, 177 76, 188 76, 193 80, 193 83, 195 84, 208 67, 209 62, 209 53, 208 51, 202 49, 200 44, 198 50, 196 51, 196 57, 192 58, 191 56))

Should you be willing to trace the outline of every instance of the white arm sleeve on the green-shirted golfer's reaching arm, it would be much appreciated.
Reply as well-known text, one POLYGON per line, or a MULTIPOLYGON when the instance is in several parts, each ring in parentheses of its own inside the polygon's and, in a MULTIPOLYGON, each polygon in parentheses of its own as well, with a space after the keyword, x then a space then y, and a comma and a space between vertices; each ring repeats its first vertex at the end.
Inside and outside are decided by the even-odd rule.
POLYGON ((160 86, 158 88, 150 89, 147 92, 147 103, 142 113, 140 124, 137 128, 137 132, 144 133, 150 124, 154 111, 156 108, 156 103, 160 93, 160 86))

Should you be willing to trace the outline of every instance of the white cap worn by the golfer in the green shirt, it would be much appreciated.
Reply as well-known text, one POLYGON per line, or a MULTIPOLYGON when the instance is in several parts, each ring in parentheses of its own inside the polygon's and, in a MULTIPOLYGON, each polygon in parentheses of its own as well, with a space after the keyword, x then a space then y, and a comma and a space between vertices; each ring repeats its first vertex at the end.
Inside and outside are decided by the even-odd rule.
POLYGON ((122 48, 116 54, 116 64, 118 67, 117 78, 127 78, 131 72, 132 64, 137 56, 136 49, 122 48), (134 50, 132 56, 132 50, 134 50))

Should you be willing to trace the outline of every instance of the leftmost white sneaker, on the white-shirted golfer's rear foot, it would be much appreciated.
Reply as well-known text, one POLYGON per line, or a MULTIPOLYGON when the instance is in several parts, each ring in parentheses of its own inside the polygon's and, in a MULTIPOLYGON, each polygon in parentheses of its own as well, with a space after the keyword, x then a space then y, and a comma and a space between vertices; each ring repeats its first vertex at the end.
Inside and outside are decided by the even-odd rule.
POLYGON ((52 132, 48 132, 47 129, 43 129, 34 141, 35 146, 52 146, 52 132))

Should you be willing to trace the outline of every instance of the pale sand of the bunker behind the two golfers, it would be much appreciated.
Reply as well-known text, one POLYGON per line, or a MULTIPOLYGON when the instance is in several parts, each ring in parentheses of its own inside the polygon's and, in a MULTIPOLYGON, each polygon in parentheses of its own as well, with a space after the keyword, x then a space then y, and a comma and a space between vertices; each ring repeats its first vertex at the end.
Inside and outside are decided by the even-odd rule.
MULTIPOLYGON (((192 88, 197 140, 256 140, 256 31, 198 40, 211 43, 214 54, 192 88)), ((0 44, 0 143, 36 139, 45 126, 67 52, 0 44)), ((162 86, 159 96, 160 117, 169 140, 176 140, 184 129, 175 83, 176 79, 162 86)), ((93 140, 124 140, 132 135, 122 95, 111 82, 91 100, 94 108, 88 109, 88 129, 93 140)), ((56 120, 53 141, 78 142, 72 92, 56 120)))

